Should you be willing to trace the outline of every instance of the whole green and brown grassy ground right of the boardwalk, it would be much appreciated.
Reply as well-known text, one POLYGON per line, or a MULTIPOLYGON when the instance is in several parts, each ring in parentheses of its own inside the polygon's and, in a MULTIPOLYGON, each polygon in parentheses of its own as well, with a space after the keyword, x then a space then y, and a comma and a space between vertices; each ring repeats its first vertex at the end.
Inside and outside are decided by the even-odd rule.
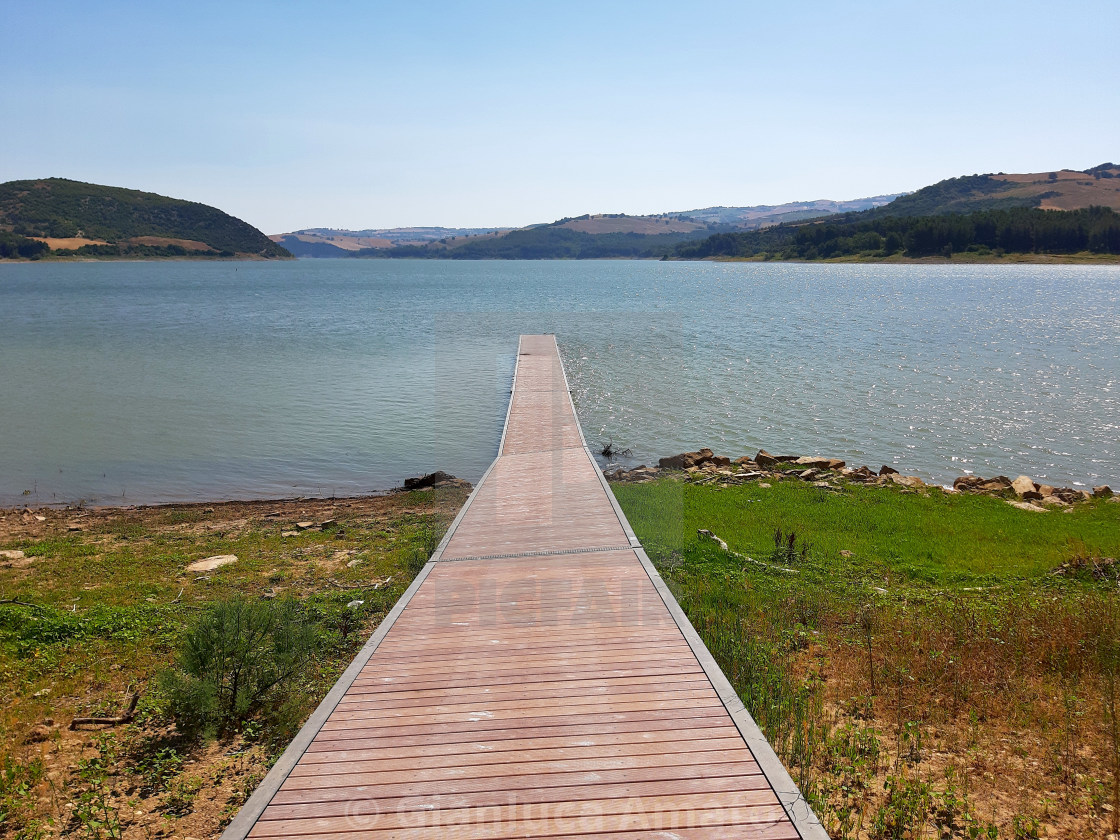
POLYGON ((614 489, 831 836, 1113 830, 1120 504, 773 485, 614 489))

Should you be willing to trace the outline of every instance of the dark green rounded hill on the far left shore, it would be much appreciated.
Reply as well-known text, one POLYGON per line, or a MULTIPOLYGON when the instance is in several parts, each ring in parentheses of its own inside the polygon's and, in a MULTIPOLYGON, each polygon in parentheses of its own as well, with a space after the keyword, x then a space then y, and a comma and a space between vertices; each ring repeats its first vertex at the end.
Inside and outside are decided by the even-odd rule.
POLYGON ((197 202, 64 178, 0 184, 0 256, 47 254, 291 256, 252 225, 197 202))

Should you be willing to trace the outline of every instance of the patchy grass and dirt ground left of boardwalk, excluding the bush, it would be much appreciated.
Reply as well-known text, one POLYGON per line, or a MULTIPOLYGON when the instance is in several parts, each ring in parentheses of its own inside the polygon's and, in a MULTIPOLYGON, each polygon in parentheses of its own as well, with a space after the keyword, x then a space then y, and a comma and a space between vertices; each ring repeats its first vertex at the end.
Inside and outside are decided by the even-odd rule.
POLYGON ((19 840, 216 836, 423 566, 465 498, 0 511, 0 834, 19 840), (296 522, 333 524, 296 532, 296 522), (71 531, 80 528, 81 531, 71 531), (289 535, 282 535, 284 532, 289 535), (237 562, 211 572, 188 563, 237 562), (153 679, 186 628, 232 598, 292 599, 317 655, 221 741, 186 738, 153 679), (362 601, 347 607, 352 601, 362 601), (27 606, 30 605, 30 606, 27 606), (66 728, 120 713, 108 732, 66 728))

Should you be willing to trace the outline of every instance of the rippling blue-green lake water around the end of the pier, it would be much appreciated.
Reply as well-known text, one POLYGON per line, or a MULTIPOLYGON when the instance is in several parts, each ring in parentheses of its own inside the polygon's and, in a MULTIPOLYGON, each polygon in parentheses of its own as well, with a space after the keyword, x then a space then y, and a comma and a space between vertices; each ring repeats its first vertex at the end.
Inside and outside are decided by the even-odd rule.
POLYGON ((0 504, 476 480, 521 333, 588 440, 1120 485, 1120 269, 0 265, 0 504))

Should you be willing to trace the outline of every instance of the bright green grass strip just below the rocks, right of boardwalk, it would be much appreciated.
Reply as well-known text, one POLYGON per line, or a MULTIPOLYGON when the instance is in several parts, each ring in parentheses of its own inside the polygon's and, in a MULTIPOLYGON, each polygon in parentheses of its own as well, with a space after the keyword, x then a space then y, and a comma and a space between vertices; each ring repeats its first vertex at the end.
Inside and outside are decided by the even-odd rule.
POLYGON ((708 529, 732 551, 765 557, 776 529, 794 532, 840 571, 907 582, 978 586, 1035 579, 1072 556, 1120 556, 1120 506, 1093 502, 1070 513, 1020 511, 990 496, 926 495, 890 487, 842 492, 804 482, 720 489, 680 482, 620 484, 615 495, 648 544, 679 550, 708 529))

